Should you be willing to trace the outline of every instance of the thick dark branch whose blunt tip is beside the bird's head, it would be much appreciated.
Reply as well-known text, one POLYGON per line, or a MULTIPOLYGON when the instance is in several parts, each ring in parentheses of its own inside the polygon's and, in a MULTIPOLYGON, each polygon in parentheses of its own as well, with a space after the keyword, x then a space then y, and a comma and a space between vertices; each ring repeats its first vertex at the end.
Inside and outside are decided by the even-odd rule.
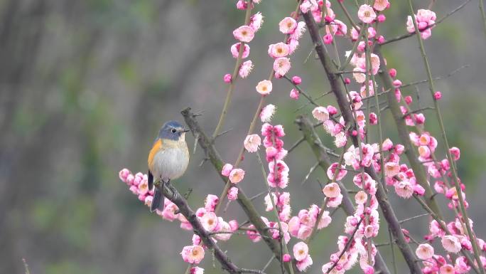
MULTIPOLYGON (((227 177, 222 176, 221 174, 223 162, 220 154, 216 151, 215 146, 212 144, 211 139, 207 137, 205 132, 198 124, 198 121, 196 120, 193 112, 191 112, 190 107, 186 108, 181 113, 184 117, 185 123, 188 125, 191 132, 193 132, 195 138, 198 139, 198 143, 202 150, 204 150, 206 157, 210 160, 212 166, 215 167, 215 170, 217 174, 220 175, 223 183, 226 184, 227 177)), ((238 187, 237 201, 242 207, 244 213, 247 214, 249 221, 252 222, 252 224, 255 226, 255 228, 257 228, 257 231, 262 236, 265 236, 262 237, 263 241, 266 243, 267 246, 269 246, 270 250, 275 254, 276 258, 280 258, 281 251, 279 242, 271 238, 269 231, 266 229, 266 224, 264 223, 264 221, 261 220, 260 214, 252 204, 252 200, 244 194, 244 191, 240 189, 238 185, 236 185, 235 187, 238 187)), ((286 263, 286 267, 288 267, 288 263, 286 263)))

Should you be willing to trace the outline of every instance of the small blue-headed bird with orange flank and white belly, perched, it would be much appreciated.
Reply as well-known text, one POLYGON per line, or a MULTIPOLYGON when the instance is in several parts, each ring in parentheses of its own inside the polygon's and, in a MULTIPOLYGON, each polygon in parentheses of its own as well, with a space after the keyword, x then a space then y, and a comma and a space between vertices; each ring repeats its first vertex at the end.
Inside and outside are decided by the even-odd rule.
POLYGON ((161 187, 155 188, 150 211, 163 210, 161 189, 172 179, 178 179, 185 173, 189 164, 189 149, 185 142, 185 129, 180 122, 168 121, 158 131, 152 148, 148 152, 148 189, 151 190, 160 182, 161 187))

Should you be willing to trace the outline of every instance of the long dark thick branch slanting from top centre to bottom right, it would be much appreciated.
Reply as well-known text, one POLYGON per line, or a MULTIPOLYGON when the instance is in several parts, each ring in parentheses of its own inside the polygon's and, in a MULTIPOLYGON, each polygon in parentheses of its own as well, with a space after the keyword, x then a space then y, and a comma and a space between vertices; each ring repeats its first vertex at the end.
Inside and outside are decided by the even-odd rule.
MULTIPOLYGON (((323 41, 320 38, 318 27, 315 24, 312 14, 303 14, 303 17, 306 20, 306 25, 314 43, 315 51, 318 53, 320 63, 322 63, 325 69, 325 73, 328 76, 331 90, 333 90, 333 93, 338 101, 342 117, 344 117, 346 125, 354 125, 355 123, 352 116, 352 110, 349 102, 347 102, 347 99, 345 97, 344 84, 342 83, 342 80, 340 80, 340 76, 336 74, 338 73, 338 68, 335 67, 328 54, 325 53, 323 41)), ((357 147, 360 141, 356 136, 351 135, 351 137, 353 144, 355 144, 355 147, 357 147)), ((409 269, 412 273, 421 274, 422 270, 419 266, 419 263, 417 263, 414 252, 411 250, 409 244, 405 241, 405 236, 404 233, 401 231, 400 223, 395 216, 392 205, 389 204, 387 194, 385 193, 383 188, 383 184, 380 183, 381 180, 377 176, 376 172, 374 172, 374 169, 372 169, 372 167, 365 167, 365 172, 367 172, 367 174, 369 174, 372 179, 379 182, 377 184, 376 194, 379 206, 383 211, 383 215, 387 220, 389 228, 392 230, 394 238, 396 238, 396 244, 397 246, 399 246, 401 254, 404 256, 407 265, 409 265, 409 269)))

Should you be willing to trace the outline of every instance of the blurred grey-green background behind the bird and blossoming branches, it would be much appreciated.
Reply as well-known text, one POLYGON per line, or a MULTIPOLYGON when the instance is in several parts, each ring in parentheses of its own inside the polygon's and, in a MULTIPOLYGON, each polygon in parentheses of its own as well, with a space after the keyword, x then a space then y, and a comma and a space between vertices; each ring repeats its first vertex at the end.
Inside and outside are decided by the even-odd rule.
MULTIPOLYGON (((428 6, 428 1, 415 2, 417 9, 428 6)), ((257 6, 265 23, 250 45, 254 72, 238 81, 225 125, 233 130, 217 142, 227 162, 234 161, 257 106, 254 86, 271 69, 267 45, 281 41, 277 24, 294 5, 264 0, 257 6)), ((433 11, 441 18, 458 5, 455 0, 437 1, 433 11)), ((406 32, 407 11, 406 1, 392 1, 385 12, 387 24, 380 28, 385 37, 406 32)), ((347 23, 337 4, 335 12, 347 23)), ((158 128, 166 120, 182 120, 185 107, 203 110, 201 125, 207 132, 214 130, 227 88, 222 75, 234 66, 232 30, 242 24, 244 13, 234 8, 234 1, 4 0, 0 14, 0 273, 23 273, 22 258, 36 274, 183 273, 186 265, 179 253, 192 233, 180 231, 176 221, 149 214, 119 181, 118 171, 127 167, 144 172, 158 128)), ((477 1, 472 1, 433 28, 425 44, 434 75, 469 65, 439 81, 437 88, 444 95, 441 106, 450 144, 462 152, 459 172, 468 187, 470 216, 484 237, 486 39, 481 26, 477 1)), ((342 58, 350 43, 340 38, 338 43, 342 58)), ((306 33, 292 56, 290 73, 301 75, 302 87, 315 97, 329 86, 313 56, 304 63, 311 48, 306 33)), ((426 78, 416 38, 386 46, 384 54, 403 83, 426 78)), ((426 85, 417 88, 421 106, 430 105, 426 85)), ((279 107, 274 122, 286 128, 286 147, 300 137, 293 124, 296 115, 311 110, 295 112, 305 100, 290 100, 290 90, 285 80, 275 80, 268 100, 279 107)), ((416 89, 402 93, 415 96, 416 89)), ((330 97, 319 102, 334 103, 330 97)), ((426 129, 439 136, 435 115, 428 114, 426 129)), ((397 142, 388 116, 385 112, 386 136, 397 142)), ((323 130, 319 133, 332 146, 323 130)), ((188 143, 192 149, 192 136, 188 143)), ((323 178, 321 170, 301 186, 315 163, 310 155, 303 144, 286 160, 294 214, 320 204, 316 180, 323 178)), ((175 183, 181 192, 193 188, 193 208, 222 189, 212 166, 199 166, 203 158, 198 149, 188 172, 175 183)), ((249 196, 264 191, 254 155, 247 156, 243 167, 244 191, 249 196)), ((423 213, 414 201, 397 199, 392 192, 391 200, 399 218, 423 213)), ((255 204, 271 216, 264 212, 262 199, 255 204)), ((246 220, 235 203, 223 215, 246 220)), ((314 265, 308 273, 320 273, 337 249, 344 214, 338 211, 333 218, 315 238, 314 265)), ((421 238, 427 219, 405 228, 421 238)), ((380 234, 377 243, 388 241, 384 221, 380 234)), ((221 246, 244 268, 262 268, 271 256, 263 243, 252 244, 244 236, 233 236, 221 246)), ((380 249, 389 262, 389 248, 380 249)), ((212 268, 209 253, 201 266, 206 273, 221 273, 219 267, 212 268)), ((268 273, 277 268, 273 263, 268 273)), ((401 258, 399 268, 406 273, 401 258)))

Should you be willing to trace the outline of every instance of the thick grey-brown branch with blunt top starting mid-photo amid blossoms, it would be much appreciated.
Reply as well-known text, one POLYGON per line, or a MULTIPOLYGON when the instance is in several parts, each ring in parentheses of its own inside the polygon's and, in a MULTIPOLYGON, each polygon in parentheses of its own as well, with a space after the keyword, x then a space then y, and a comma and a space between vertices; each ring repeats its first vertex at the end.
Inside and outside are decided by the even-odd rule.
MULTIPOLYGON (((306 142, 311 146, 312 152, 315 154, 315 157, 318 159, 319 166, 324 169, 326 172, 331 165, 331 160, 328 156, 328 152, 324 149, 323 143, 320 141, 319 136, 314 130, 312 122, 308 120, 307 117, 299 116, 296 119, 296 124, 301 130, 304 139, 306 142)), ((347 189, 341 181, 337 181, 341 188, 342 194, 342 209, 346 212, 347 216, 352 216, 355 214, 355 207, 352 205, 352 200, 350 198, 350 194, 347 192, 347 189)), ((376 262, 374 263, 374 268, 382 274, 389 274, 389 270, 387 268, 387 264, 384 262, 382 255, 377 251, 377 255, 375 257, 376 262)))

